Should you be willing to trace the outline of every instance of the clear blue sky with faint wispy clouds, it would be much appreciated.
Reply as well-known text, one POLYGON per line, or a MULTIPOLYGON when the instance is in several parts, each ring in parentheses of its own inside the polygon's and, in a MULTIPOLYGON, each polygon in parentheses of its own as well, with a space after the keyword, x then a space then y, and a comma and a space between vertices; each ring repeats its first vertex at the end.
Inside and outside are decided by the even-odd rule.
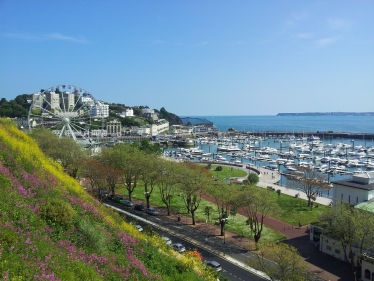
POLYGON ((180 116, 374 111, 374 1, 0 0, 0 97, 180 116))

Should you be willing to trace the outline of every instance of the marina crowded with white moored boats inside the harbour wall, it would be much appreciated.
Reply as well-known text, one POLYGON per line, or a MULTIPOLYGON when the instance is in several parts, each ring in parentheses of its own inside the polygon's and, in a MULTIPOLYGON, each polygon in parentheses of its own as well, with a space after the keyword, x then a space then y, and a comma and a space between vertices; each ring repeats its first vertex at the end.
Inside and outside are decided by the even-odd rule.
MULTIPOLYGON (((193 147, 164 146, 163 154, 180 161, 240 167, 262 167, 280 173, 277 184, 286 186, 287 175, 297 167, 310 167, 327 182, 347 179, 353 174, 374 170, 374 141, 319 136, 235 133, 230 136, 200 136, 193 147)), ((331 192, 321 194, 330 197, 331 192)))

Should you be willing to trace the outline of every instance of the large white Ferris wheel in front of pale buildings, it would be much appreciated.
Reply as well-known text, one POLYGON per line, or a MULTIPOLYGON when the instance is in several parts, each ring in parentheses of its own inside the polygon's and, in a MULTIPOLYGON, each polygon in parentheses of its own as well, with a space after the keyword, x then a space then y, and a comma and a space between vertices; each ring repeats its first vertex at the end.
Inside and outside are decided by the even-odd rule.
POLYGON ((29 130, 50 128, 60 138, 88 139, 90 108, 95 98, 73 85, 58 85, 33 94, 28 115, 29 130))

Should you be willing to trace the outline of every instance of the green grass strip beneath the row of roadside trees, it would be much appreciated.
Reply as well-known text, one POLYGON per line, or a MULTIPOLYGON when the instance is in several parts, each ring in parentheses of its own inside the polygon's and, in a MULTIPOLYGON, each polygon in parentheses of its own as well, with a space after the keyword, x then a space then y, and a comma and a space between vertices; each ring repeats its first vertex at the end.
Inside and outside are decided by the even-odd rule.
MULTIPOLYGON (((126 188, 123 187, 123 188, 118 189, 117 193, 127 195, 127 190, 126 188)), ((138 187, 136 187, 132 195, 134 198, 145 201, 143 185, 139 185, 138 187)), ((159 207, 165 206, 164 203, 161 201, 161 196, 160 196, 158 188, 154 189, 151 195, 151 198, 150 198, 150 202, 152 205, 156 205, 159 207)), ((216 220, 218 220, 217 207, 215 204, 209 201, 203 200, 203 199, 201 200, 199 208, 195 212, 195 219, 197 221, 206 220, 206 215, 205 215, 204 210, 205 210, 205 207, 207 206, 212 207, 213 214, 210 216, 210 220, 208 223, 213 224, 216 220)), ((172 199, 172 209, 176 213, 190 216, 189 214, 187 214, 186 207, 183 203, 183 199, 180 196, 176 195, 172 199)), ((225 229, 227 231, 236 233, 238 235, 253 239, 253 234, 251 233, 251 230, 249 229, 249 227, 246 225, 246 220, 247 220, 246 217, 239 215, 239 214, 236 214, 235 216, 230 216, 229 223, 226 224, 225 229)), ((216 226, 216 228, 217 228, 216 233, 219 234, 219 231, 220 231, 219 226, 216 226)), ((271 228, 268 228, 268 227, 264 227, 264 230, 261 236, 261 241, 282 241, 284 239, 285 239, 284 235, 282 235, 280 232, 273 230, 271 228)))

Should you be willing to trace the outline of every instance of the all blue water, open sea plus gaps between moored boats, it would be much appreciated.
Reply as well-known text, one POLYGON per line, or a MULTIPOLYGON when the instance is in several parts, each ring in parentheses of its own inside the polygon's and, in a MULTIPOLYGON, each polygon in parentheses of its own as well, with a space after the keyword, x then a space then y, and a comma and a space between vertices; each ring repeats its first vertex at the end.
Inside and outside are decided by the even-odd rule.
MULTIPOLYGON (((321 139, 324 143, 331 145, 337 145, 339 143, 353 145, 354 147, 369 148, 374 147, 374 140, 372 138, 364 137, 364 134, 374 134, 374 116, 328 116, 328 115, 316 115, 316 116, 189 116, 189 118, 200 118, 206 119, 213 122, 214 126, 220 131, 227 131, 229 128, 233 128, 239 132, 263 132, 264 135, 271 135, 271 132, 285 132, 289 135, 302 135, 303 132, 341 132, 341 133, 358 133, 363 134, 362 139, 345 139, 345 138, 334 138, 334 139, 321 139)), ((265 140, 257 143, 259 147, 272 147, 280 149, 280 141, 275 137, 268 137, 265 140)), ((283 148, 287 148, 287 144, 283 144, 283 148)), ((200 144, 196 143, 196 147, 202 149, 204 152, 218 153, 216 144, 200 144)), ((238 144, 241 147, 241 144, 238 144)), ((165 148, 165 152, 176 151, 176 147, 165 148)), ((353 151, 353 148, 349 149, 349 152, 353 151)), ((347 150, 346 150, 347 153, 347 150)), ((253 154, 253 153, 252 153, 253 154)), ((324 156, 324 155, 322 155, 324 156)), ((231 160, 231 156, 225 156, 228 161, 231 160)), ((276 159, 279 156, 274 155, 272 159, 276 159)), ((343 157, 344 158, 344 157, 343 157)), ((361 159, 362 162, 367 159, 361 159)), ((264 167, 269 165, 267 162, 254 161, 250 157, 241 157, 240 161, 243 164, 251 163, 258 167, 264 167)), ((302 160, 299 160, 302 161, 302 160)), ((370 161, 374 161, 371 158, 370 161)), ((296 162, 297 163, 297 162, 296 162)), ((316 163, 318 164, 318 163, 316 163)), ((280 167, 281 171, 285 171, 286 167, 280 167)), ((348 179, 352 177, 352 174, 357 171, 357 167, 348 167, 349 173, 343 174, 329 174, 328 181, 337 181, 342 179, 348 179)), ((287 178, 282 176, 281 181, 278 184, 287 185, 287 178)), ((326 191, 322 196, 331 198, 332 191, 326 191)))

